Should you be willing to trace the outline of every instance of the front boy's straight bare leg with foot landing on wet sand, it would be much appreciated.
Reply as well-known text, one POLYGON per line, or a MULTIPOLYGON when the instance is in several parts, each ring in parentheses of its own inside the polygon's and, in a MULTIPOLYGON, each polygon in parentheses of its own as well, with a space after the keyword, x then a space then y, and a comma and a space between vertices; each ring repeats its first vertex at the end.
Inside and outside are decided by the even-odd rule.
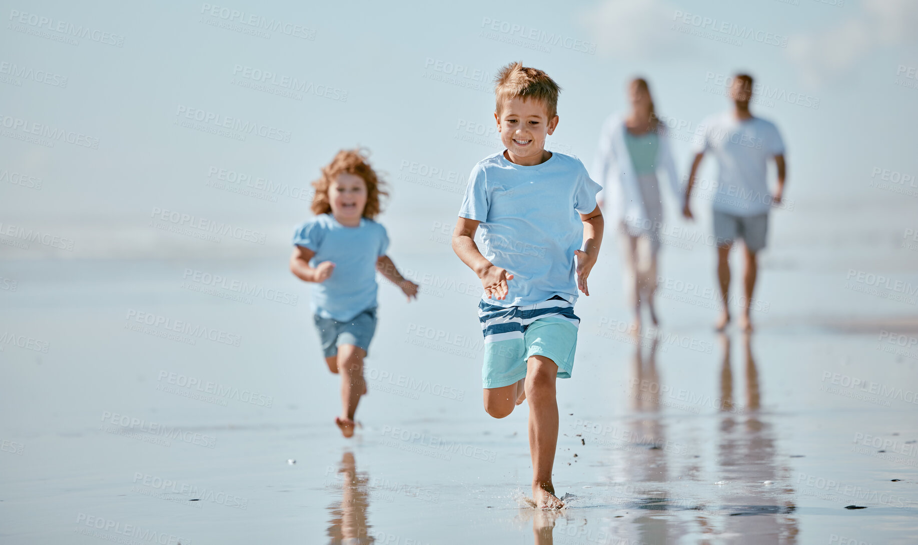
POLYGON ((529 450, 532 455, 532 499, 539 508, 564 504, 554 495, 552 468, 558 445, 558 401, 554 382, 558 366, 543 356, 527 361, 526 398, 529 400, 529 450))

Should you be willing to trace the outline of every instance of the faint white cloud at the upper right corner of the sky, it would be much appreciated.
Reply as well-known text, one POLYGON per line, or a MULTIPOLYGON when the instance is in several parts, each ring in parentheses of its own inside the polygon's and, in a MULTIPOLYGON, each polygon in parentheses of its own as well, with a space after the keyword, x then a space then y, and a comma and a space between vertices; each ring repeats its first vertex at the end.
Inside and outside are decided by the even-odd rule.
POLYGON ((869 0, 860 17, 790 37, 788 55, 803 81, 818 86, 844 76, 874 50, 914 43, 915 27, 915 0, 869 0))

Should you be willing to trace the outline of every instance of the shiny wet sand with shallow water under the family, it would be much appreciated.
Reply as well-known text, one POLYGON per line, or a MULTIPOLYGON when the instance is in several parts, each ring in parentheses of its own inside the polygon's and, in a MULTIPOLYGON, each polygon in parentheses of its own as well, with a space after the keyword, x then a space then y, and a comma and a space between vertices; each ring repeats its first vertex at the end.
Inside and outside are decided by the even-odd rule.
MULTIPOLYGON (((680 278, 706 285, 705 257, 666 249, 662 270, 685 260, 680 278)), ((660 334, 635 340, 618 330, 626 314, 610 259, 577 304, 577 363, 558 387, 554 484, 566 506, 546 512, 526 501, 526 407, 501 420, 481 407, 476 297, 458 287, 474 277, 448 259, 397 262, 423 260, 454 285, 431 281, 410 305, 381 285, 370 394, 350 440, 332 423, 339 384, 319 358, 308 288, 282 260, 7 261, 5 275, 21 281, 5 294, 15 312, 4 330, 49 345, 0 352, 0 540, 918 538, 918 359, 878 340, 890 323, 915 335, 911 306, 846 290, 844 273, 766 267, 759 296, 773 303, 754 334, 714 333, 715 311, 691 295, 661 297, 660 334), (186 269, 300 298, 195 291, 186 269), (795 290, 826 300, 823 312, 795 290), (873 314, 839 310, 855 307, 873 314), (239 346, 126 328, 143 312, 239 346)))

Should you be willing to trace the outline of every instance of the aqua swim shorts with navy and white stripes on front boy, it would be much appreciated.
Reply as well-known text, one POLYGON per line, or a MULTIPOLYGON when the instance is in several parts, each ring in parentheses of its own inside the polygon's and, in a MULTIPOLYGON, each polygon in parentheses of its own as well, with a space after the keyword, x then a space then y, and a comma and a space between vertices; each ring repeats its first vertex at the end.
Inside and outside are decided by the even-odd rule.
POLYGON ((533 355, 554 361, 558 378, 570 378, 580 318, 560 295, 526 306, 497 306, 483 299, 478 320, 485 335, 483 387, 516 383, 526 376, 526 361, 533 355))

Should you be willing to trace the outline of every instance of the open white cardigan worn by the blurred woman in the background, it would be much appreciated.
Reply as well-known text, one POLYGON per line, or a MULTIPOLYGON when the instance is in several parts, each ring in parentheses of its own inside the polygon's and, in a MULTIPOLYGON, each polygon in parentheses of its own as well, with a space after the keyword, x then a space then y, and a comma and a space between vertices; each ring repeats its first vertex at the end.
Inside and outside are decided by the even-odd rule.
MULTIPOLYGON (((599 133, 599 150, 593 162, 593 179, 603 188, 597 199, 603 198, 606 201, 606 210, 603 213, 610 217, 612 225, 624 221, 629 227, 646 231, 649 230, 651 220, 647 217, 647 207, 644 206, 631 155, 625 145, 627 128, 624 121, 623 116, 616 114, 603 123, 599 133)), ((659 145, 655 166, 657 171, 661 168, 666 171, 669 186, 676 195, 681 209, 681 206, 684 206, 685 195, 676 173, 669 138, 663 130, 665 127, 660 128, 661 130, 657 131, 659 145)))

